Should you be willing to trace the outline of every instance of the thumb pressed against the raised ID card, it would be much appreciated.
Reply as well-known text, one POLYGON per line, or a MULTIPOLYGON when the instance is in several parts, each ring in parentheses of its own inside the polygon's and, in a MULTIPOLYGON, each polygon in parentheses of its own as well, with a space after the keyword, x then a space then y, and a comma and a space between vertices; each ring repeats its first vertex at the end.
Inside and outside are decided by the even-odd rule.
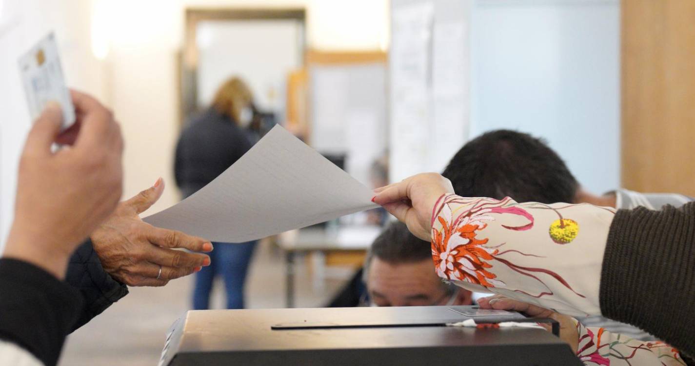
POLYGON ((60 111, 60 104, 48 102, 26 137, 24 152, 50 154, 51 145, 56 141, 58 134, 60 134, 60 126, 62 124, 63 113, 60 111))

